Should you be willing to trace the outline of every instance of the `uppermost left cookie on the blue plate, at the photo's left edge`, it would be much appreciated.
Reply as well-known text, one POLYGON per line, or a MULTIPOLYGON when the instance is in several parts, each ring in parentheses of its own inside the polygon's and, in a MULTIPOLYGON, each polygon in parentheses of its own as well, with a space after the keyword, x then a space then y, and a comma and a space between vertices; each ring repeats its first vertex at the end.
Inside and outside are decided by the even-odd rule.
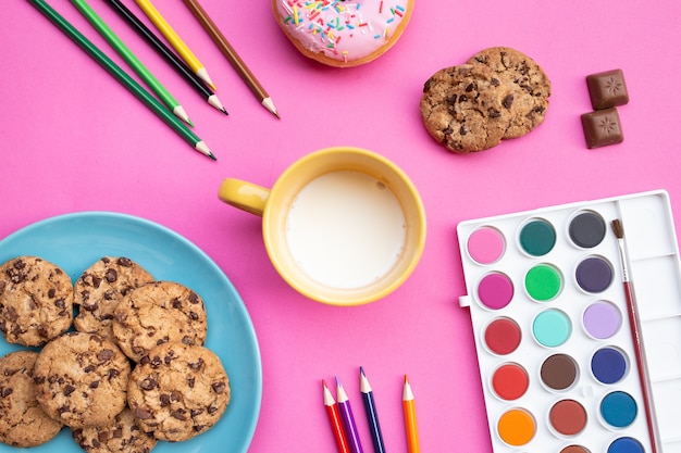
POLYGON ((42 345, 72 320, 73 284, 62 268, 37 256, 0 266, 0 331, 9 343, 42 345))

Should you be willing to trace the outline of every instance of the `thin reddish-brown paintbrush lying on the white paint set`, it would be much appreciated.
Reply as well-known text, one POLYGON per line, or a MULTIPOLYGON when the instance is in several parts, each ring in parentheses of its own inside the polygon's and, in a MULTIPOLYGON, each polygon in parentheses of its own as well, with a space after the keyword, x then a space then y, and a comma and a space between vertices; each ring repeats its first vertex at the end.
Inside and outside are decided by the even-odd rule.
POLYGON ((645 366, 646 360, 645 350, 643 348, 643 340, 641 339, 641 318, 639 317, 636 300, 634 298, 634 291, 629 276, 627 248, 624 246, 624 228, 619 218, 612 221, 611 226, 612 231, 617 237, 620 261, 622 262, 622 285, 624 286, 624 295, 627 299, 627 311, 629 314, 631 336, 634 340, 634 355, 636 356, 636 365, 639 367, 639 380, 641 381, 641 390, 643 392, 643 406, 646 415, 648 435, 651 437, 651 452, 656 453, 657 451, 661 451, 661 449, 658 444, 659 435, 657 433, 657 424, 655 423, 655 410, 653 408, 653 391, 651 386, 651 378, 647 373, 647 367, 645 366))

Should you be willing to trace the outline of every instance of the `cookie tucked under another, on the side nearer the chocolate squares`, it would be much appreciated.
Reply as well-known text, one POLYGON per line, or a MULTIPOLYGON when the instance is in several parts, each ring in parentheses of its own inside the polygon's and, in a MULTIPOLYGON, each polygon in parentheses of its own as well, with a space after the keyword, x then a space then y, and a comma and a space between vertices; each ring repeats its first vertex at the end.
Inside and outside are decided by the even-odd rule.
POLYGON ((508 47, 491 47, 468 60, 490 67, 510 88, 511 122, 504 138, 518 138, 544 122, 550 96, 550 80, 530 56, 508 47))

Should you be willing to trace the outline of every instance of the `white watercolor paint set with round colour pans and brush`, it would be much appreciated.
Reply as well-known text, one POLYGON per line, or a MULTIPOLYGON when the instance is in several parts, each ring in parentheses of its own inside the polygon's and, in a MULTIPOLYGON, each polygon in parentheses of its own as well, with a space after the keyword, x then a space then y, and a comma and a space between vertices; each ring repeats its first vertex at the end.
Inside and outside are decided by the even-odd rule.
POLYGON ((466 221, 457 234, 495 453, 681 453, 666 191, 466 221))

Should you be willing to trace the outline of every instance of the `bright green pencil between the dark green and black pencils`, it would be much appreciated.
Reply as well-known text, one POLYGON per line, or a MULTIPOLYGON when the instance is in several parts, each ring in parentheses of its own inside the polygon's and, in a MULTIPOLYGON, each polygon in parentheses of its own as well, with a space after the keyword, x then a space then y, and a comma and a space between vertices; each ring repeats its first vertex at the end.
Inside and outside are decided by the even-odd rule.
POLYGON ((177 100, 165 89, 153 74, 144 65, 133 51, 116 36, 107 23, 90 8, 85 0, 71 0, 71 2, 83 13, 99 34, 111 45, 111 47, 125 60, 125 62, 137 73, 159 99, 182 121, 194 126, 187 112, 177 100))

